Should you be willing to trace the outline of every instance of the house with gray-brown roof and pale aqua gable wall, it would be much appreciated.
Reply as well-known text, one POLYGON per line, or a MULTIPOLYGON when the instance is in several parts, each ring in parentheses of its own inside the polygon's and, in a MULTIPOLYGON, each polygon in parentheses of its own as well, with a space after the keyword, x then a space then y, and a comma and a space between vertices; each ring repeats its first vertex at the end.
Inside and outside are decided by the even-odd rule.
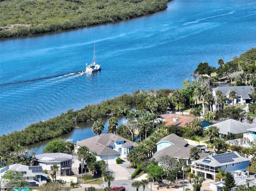
MULTIPOLYGON (((177 159, 185 159, 186 163, 190 164, 191 148, 193 146, 188 144, 188 141, 172 133, 156 143, 157 152, 154 153, 153 158, 158 159, 160 156, 168 155, 177 159)), ((200 154, 200 158, 206 156, 208 156, 207 153, 200 154)))

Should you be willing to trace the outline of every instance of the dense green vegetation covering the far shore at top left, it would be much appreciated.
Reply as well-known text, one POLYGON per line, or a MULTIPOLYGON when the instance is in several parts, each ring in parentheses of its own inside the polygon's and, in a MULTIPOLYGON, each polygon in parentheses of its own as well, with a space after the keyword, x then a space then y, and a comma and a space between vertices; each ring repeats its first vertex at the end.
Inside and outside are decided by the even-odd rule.
POLYGON ((0 38, 115 22, 166 8, 166 0, 2 0, 0 38))

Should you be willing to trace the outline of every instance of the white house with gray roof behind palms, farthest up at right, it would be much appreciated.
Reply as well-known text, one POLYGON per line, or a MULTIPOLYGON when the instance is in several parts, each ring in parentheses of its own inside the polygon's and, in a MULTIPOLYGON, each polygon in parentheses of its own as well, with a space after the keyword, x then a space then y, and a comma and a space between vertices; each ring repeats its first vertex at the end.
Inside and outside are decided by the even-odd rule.
MULTIPOLYGON (((221 91, 223 95, 227 97, 226 102, 231 103, 232 100, 229 100, 229 93, 230 91, 236 92, 236 98, 234 99, 234 103, 250 103, 251 99, 249 94, 252 94, 253 87, 252 86, 219 86, 212 89, 212 95, 216 100, 216 91, 221 91)), ((217 108, 218 109, 218 108, 217 108)), ((216 106, 213 106, 213 110, 216 110, 216 106)))

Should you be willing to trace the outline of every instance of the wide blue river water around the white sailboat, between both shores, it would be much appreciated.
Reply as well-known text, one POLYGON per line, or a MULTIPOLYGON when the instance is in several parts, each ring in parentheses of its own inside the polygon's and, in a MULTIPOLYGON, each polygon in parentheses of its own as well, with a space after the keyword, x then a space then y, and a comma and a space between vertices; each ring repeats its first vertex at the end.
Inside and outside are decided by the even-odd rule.
POLYGON ((174 0, 140 18, 1 39, 0 135, 136 89, 179 88, 200 62, 256 47, 255 24, 255 0, 174 0), (94 43, 102 71, 78 75, 94 43))

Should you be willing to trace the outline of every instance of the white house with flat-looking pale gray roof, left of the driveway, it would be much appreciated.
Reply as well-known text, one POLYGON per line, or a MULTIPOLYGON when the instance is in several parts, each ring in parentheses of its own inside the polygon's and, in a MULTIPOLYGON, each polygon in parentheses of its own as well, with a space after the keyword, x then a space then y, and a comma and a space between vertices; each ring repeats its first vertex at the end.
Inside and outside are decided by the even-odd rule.
MULTIPOLYGON (((56 164, 60 169, 61 176, 72 175, 73 156, 65 153, 44 153, 35 156, 34 163, 42 169, 51 170, 51 166, 56 164)), ((74 162, 73 162, 74 163, 74 162)), ((57 172, 58 173, 58 172, 57 172)))

